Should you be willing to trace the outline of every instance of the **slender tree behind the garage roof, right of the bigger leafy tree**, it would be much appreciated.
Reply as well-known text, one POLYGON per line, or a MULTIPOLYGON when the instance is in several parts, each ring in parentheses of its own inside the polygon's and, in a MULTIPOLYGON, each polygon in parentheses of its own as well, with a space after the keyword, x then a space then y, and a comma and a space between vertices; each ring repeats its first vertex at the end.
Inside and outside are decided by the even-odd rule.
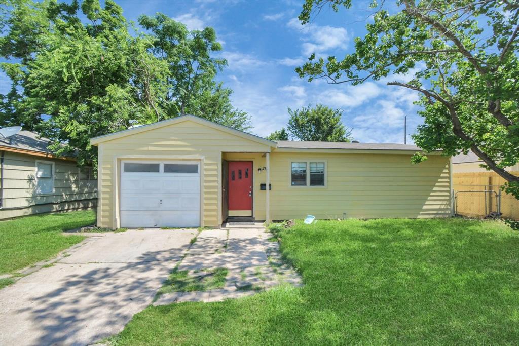
POLYGON ((184 24, 163 13, 142 15, 139 23, 154 35, 154 56, 169 65, 167 97, 162 104, 167 117, 193 114, 238 130, 250 130, 248 114, 230 104, 233 91, 214 82, 227 61, 212 56, 222 50, 212 27, 189 32, 184 24))

